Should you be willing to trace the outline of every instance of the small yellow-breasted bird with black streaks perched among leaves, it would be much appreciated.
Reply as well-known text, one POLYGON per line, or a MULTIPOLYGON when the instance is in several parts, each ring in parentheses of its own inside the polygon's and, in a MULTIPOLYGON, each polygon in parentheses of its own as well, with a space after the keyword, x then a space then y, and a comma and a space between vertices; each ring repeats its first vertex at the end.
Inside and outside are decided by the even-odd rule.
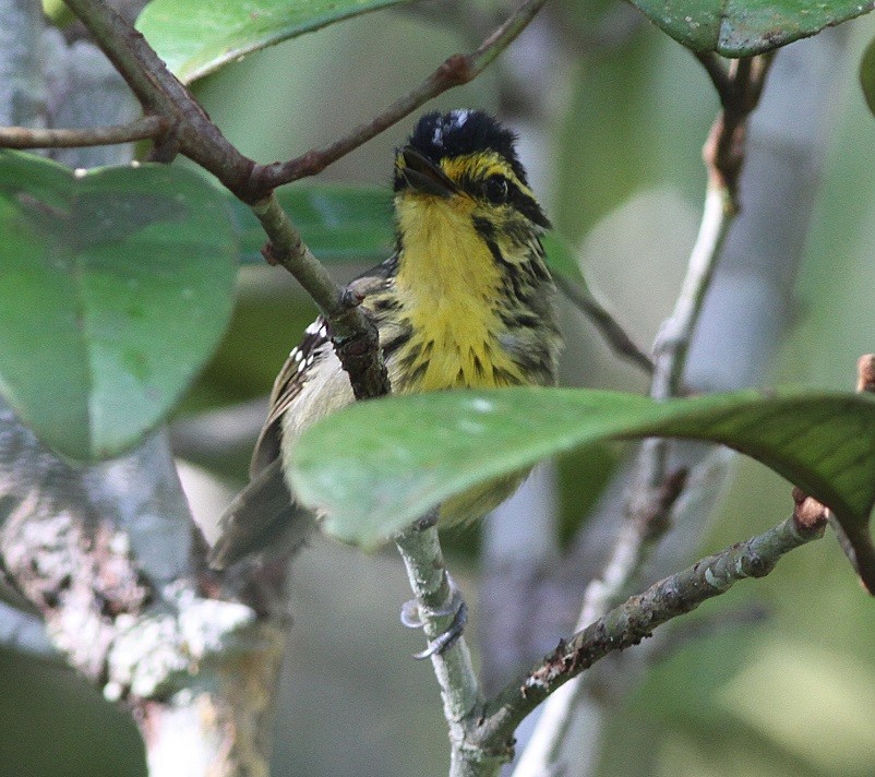
MULTIPOLYGON (((396 150, 395 251, 348 287, 376 326, 393 394, 555 384, 562 337, 541 243, 551 225, 516 143, 491 115, 456 109, 422 116, 396 150)), ((331 325, 319 316, 274 383, 250 485, 219 519, 211 566, 269 552, 284 534, 302 536, 308 511, 286 463, 308 427, 352 402, 331 325)), ((439 526, 482 517, 526 474, 444 502, 439 526)))

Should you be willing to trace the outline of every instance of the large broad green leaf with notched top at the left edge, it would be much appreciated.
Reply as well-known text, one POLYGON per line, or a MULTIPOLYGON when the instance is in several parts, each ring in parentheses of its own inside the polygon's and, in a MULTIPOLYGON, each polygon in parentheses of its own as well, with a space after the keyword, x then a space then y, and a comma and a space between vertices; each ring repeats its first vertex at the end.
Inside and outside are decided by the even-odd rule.
POLYGON ((0 152, 0 392, 48 445, 95 459, 167 416, 231 311, 230 213, 166 165, 71 170, 0 152))

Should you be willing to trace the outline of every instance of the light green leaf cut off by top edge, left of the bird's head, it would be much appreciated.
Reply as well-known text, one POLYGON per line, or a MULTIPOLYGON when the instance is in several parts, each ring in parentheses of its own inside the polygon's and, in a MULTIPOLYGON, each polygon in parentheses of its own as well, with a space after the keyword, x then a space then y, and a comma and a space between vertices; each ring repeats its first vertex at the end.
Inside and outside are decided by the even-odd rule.
POLYGON ((136 28, 188 84, 266 46, 406 1, 153 0, 136 28))

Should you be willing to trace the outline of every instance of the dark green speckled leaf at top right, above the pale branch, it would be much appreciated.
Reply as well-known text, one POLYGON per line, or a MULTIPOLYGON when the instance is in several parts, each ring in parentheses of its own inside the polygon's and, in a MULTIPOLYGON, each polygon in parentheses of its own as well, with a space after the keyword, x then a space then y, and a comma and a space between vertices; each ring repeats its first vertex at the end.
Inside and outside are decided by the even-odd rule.
POLYGON ((751 57, 868 13, 853 0, 633 0, 651 22, 694 51, 751 57))

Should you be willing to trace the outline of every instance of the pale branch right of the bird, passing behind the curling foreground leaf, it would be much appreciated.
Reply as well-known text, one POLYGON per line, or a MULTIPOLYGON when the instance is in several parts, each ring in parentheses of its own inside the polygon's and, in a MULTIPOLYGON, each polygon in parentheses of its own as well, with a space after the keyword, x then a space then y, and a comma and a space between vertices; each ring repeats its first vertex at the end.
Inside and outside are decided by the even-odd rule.
MULTIPOLYGON (((708 170, 708 188, 698 236, 690 255, 686 277, 674 306, 654 346, 650 395, 657 399, 678 396, 686 367, 695 326, 710 288, 723 243, 739 207, 738 178, 744 163, 747 119, 756 107, 771 57, 734 62, 723 69, 715 56, 699 57, 720 97, 717 117, 703 150, 708 170)), ((681 495, 687 471, 672 471, 670 441, 645 440, 634 463, 631 489, 624 505, 625 519, 601 574, 587 587, 578 627, 587 626, 622 597, 638 575, 661 537, 671 525, 675 501, 681 495)), ((600 621, 597 621, 600 622, 600 621)), ((571 725, 572 710, 579 694, 577 680, 548 705, 532 736, 532 758, 551 758, 571 725)), ((547 774, 547 765, 538 763, 547 774)))

